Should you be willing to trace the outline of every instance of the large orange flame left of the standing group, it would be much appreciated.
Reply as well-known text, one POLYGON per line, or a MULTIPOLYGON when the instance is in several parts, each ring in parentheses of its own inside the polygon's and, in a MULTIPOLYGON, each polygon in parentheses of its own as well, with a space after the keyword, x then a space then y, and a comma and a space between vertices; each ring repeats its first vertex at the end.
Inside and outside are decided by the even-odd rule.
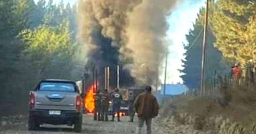
POLYGON ((94 102, 94 85, 92 84, 88 89, 85 97, 85 108, 89 113, 92 113, 95 109, 94 102))

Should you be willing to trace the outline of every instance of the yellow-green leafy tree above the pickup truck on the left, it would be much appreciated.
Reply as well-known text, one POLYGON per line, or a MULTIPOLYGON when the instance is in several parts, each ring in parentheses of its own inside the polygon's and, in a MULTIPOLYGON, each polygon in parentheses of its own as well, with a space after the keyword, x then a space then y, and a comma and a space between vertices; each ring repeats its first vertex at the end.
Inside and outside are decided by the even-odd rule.
POLYGON ((27 44, 25 54, 38 76, 69 77, 75 44, 70 41, 69 23, 64 21, 57 27, 42 25, 35 30, 24 30, 20 36, 27 44), (64 76, 63 76, 64 75, 64 76), (65 76, 66 75, 66 76, 65 76))

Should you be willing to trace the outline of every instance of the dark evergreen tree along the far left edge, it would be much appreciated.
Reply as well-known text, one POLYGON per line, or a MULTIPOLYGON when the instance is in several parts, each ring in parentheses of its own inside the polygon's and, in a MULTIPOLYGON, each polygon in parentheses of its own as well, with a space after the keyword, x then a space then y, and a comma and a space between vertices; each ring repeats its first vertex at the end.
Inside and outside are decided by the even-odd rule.
MULTIPOLYGON (((19 32, 28 27, 31 13, 27 0, 2 0, 0 3, 0 114, 10 105, 17 105, 21 88, 20 76, 24 66, 22 51, 24 45, 17 38, 19 32), (16 100, 16 101, 13 101, 16 100)), ((11 111, 13 109, 10 109, 11 111)))

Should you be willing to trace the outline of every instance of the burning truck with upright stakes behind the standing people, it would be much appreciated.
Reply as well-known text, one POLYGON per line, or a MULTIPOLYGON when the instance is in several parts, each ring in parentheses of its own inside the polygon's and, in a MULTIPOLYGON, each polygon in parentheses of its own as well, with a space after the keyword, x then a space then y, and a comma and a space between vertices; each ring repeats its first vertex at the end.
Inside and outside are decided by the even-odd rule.
MULTIPOLYGON (((116 70, 116 75, 114 75, 114 78, 116 78, 116 83, 110 83, 111 81, 111 78, 113 79, 113 77, 110 77, 110 67, 105 67, 104 68, 105 70, 105 73, 104 73, 104 78, 103 78, 103 81, 99 79, 97 79, 97 70, 94 70, 93 73, 92 73, 92 80, 91 83, 97 83, 97 84, 90 84, 90 83, 87 83, 88 85, 90 86, 87 86, 85 87, 85 85, 83 84, 78 84, 80 88, 84 88, 86 89, 86 94, 84 96, 84 107, 85 107, 85 111, 87 114, 92 114, 94 113, 94 110, 95 110, 95 93, 97 90, 100 90, 100 91, 103 91, 103 89, 107 89, 108 92, 111 94, 113 94, 114 90, 113 89, 113 86, 110 87, 110 84, 111 85, 115 85, 116 84, 116 87, 119 88, 119 73, 120 73, 120 70, 119 70, 119 66, 117 66, 117 70, 116 70), (103 85, 104 84, 104 85, 103 85), (100 87, 100 89, 98 88, 100 87)), ((112 70, 113 71, 113 70, 112 70)), ((102 77, 102 74, 99 74, 99 76, 102 77)), ((81 83, 81 82, 80 82, 81 83)), ((85 84, 85 83, 84 83, 85 84)), ((128 86, 129 87, 129 86, 128 86)), ((129 110, 129 92, 132 91, 135 95, 135 98, 144 91, 143 88, 141 87, 129 87, 129 88, 119 88, 119 92, 122 94, 123 96, 123 101, 121 102, 121 107, 120 107, 120 116, 126 116, 128 115, 128 110, 129 110)), ((109 115, 112 115, 113 112, 112 112, 112 108, 113 105, 112 105, 112 101, 109 101, 109 109, 108 109, 108 114, 109 115)), ((116 115, 117 116, 117 113, 116 115)))

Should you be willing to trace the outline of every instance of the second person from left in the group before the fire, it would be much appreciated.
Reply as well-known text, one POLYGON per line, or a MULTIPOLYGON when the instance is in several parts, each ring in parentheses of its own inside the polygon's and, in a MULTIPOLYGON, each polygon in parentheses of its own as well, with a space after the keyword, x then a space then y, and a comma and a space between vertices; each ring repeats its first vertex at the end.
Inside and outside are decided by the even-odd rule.
POLYGON ((108 107, 109 107, 110 96, 108 90, 105 89, 101 96, 101 121, 108 121, 108 107))

